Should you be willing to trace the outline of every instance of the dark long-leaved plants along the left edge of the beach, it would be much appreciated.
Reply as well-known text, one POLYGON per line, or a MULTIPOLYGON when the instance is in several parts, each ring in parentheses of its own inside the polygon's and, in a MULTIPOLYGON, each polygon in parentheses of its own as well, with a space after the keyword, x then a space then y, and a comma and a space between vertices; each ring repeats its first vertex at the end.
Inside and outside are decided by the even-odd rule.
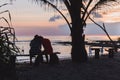
MULTIPOLYGON (((8 5, 8 3, 0 5, 0 8, 8 5)), ((9 10, 0 12, 8 13, 9 19, 5 16, 0 17, 1 23, 5 22, 7 26, 0 25, 0 79, 16 80, 15 75, 15 55, 19 49, 15 45, 15 30, 12 27, 11 14, 9 10)))

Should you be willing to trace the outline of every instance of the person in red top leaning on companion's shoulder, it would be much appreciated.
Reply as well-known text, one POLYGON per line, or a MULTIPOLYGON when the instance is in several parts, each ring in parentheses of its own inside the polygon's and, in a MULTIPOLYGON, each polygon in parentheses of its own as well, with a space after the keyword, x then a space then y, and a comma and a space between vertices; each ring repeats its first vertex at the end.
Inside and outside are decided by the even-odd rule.
POLYGON ((43 38, 42 44, 44 48, 43 54, 45 54, 46 61, 48 63, 49 62, 48 55, 53 54, 53 48, 52 48, 50 40, 47 38, 43 38))

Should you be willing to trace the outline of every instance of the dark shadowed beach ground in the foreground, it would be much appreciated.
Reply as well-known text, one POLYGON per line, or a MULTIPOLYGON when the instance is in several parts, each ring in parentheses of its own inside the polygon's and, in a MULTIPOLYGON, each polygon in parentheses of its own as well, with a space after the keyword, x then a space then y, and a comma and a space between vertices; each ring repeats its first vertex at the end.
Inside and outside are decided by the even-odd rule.
POLYGON ((120 80, 120 54, 113 59, 101 56, 89 58, 87 63, 75 64, 62 60, 58 65, 17 65, 19 80, 120 80))

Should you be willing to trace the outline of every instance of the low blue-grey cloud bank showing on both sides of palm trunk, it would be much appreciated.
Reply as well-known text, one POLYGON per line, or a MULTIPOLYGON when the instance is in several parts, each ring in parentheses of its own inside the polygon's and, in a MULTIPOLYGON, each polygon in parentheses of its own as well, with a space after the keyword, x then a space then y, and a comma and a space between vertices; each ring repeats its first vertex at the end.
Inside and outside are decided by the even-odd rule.
MULTIPOLYGON (((102 25, 102 22, 99 22, 102 25)), ((105 23, 106 30, 110 35, 120 35, 120 23, 105 23)), ((64 34, 70 34, 70 30, 67 24, 60 25, 59 29, 62 30, 64 34)), ((85 28, 86 35, 106 35, 105 32, 97 25, 93 23, 87 24, 85 28)))

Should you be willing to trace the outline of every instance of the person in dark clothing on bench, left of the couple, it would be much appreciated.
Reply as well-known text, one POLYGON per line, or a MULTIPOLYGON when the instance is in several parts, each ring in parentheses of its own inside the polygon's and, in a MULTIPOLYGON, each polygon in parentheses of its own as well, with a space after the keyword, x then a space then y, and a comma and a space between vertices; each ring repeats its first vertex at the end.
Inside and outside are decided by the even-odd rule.
POLYGON ((35 55, 39 56, 40 62, 43 61, 41 52, 42 39, 43 38, 41 36, 35 35, 33 40, 30 42, 30 64, 32 64, 32 57, 35 57, 35 55))

